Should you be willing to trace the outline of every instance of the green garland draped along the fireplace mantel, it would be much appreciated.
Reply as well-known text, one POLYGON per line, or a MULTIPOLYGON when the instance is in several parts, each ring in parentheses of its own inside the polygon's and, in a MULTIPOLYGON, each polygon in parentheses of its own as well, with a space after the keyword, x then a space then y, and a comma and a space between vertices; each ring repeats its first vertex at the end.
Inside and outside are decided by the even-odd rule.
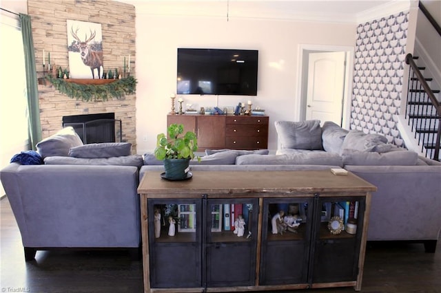
POLYGON ((69 98, 76 98, 76 100, 83 100, 83 102, 105 101, 110 98, 123 100, 126 94, 134 94, 137 83, 136 78, 133 76, 117 79, 113 83, 105 83, 103 85, 67 82, 64 78, 54 78, 49 75, 46 76, 46 79, 69 98))

